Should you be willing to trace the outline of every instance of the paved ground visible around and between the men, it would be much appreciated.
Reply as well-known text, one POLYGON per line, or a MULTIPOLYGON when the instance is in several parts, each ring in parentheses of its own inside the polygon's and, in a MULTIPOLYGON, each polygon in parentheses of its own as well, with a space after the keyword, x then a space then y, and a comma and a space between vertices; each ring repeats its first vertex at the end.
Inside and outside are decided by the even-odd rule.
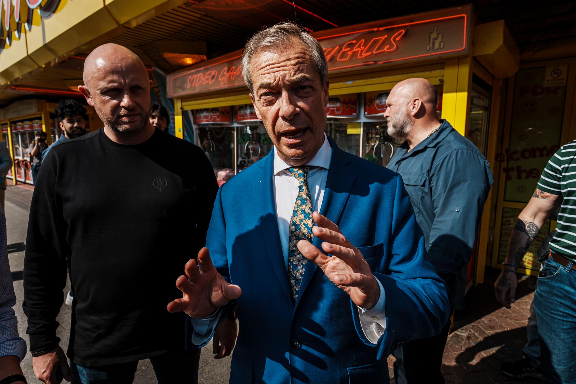
MULTIPOLYGON (((33 189, 29 186, 9 186, 6 191, 6 222, 10 268, 18 277, 22 271, 26 228, 28 227, 29 206, 33 189)), ((494 281, 498 271, 487 269, 486 282, 476 287, 466 297, 467 308, 458 311, 452 333, 446 343, 442 372, 447 383, 487 384, 510 382, 499 371, 502 362, 516 360, 521 356, 526 341, 526 324, 529 306, 535 290, 535 277, 524 276, 518 284, 516 305, 506 310, 494 299, 494 281)), ((70 282, 67 281, 68 292, 70 282)), ((26 337, 26 317, 22 311, 24 291, 22 280, 14 281, 17 304, 14 310, 18 317, 18 331, 26 337)), ((62 339, 60 345, 66 350, 70 332, 70 307, 63 306, 58 315, 57 334, 62 339)), ((390 377, 393 381, 393 357, 388 358, 390 377)), ((26 355, 22 371, 29 383, 40 383, 32 371, 32 357, 26 355)), ((198 382, 200 384, 228 383, 230 357, 215 360, 211 346, 202 349, 198 382)), ((135 375, 136 384, 155 384, 154 370, 149 360, 138 363, 135 375)), ((539 380, 525 380, 525 384, 540 383, 539 380)))

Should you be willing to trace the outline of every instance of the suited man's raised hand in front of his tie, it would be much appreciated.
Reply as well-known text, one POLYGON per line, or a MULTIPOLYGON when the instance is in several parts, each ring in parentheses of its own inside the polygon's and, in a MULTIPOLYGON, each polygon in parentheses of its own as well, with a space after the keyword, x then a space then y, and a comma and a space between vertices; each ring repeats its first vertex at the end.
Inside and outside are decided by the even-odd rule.
POLYGON ((318 212, 312 213, 312 217, 320 225, 314 225, 312 233, 324 240, 322 249, 332 257, 323 254, 308 240, 300 240, 298 250, 316 263, 332 283, 348 293, 354 304, 372 308, 380 298, 380 286, 364 256, 344 237, 338 225, 318 212))

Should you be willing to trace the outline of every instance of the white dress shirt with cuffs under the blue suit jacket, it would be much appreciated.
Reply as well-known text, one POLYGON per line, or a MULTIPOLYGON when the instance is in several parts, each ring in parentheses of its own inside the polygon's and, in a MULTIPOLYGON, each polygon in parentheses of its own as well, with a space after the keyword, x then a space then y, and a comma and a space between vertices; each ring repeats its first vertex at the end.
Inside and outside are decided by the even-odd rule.
MULTIPOLYGON (((312 201, 312 209, 320 212, 322 201, 324 199, 324 190, 326 187, 326 179, 328 178, 328 169, 330 168, 330 159, 332 157, 332 147, 330 146, 326 135, 324 135, 324 143, 320 147, 318 153, 309 163, 305 165, 314 166, 313 170, 308 172, 308 190, 310 191, 310 200, 312 201)), ((289 172, 291 165, 286 164, 279 156, 276 147, 274 147, 274 175, 272 182, 274 183, 274 200, 276 205, 276 218, 278 219, 278 232, 280 235, 280 243, 282 246, 282 254, 284 256, 284 265, 286 267, 286 274, 288 273, 288 237, 290 220, 294 211, 294 202, 298 195, 298 187, 300 183, 289 172)), ((346 234, 344 234, 346 235, 346 234)), ((358 307, 358 314, 362 330, 366 338, 376 344, 378 338, 384 334, 386 329, 386 316, 385 309, 385 292, 382 284, 378 279, 378 286, 380 287, 380 298, 376 305, 369 309, 364 310, 358 307)), ((218 324, 219 313, 217 311, 211 317, 206 319, 191 319, 194 325, 194 335, 192 336, 192 343, 201 345, 209 340, 212 330, 218 324)), ((338 320, 336 320, 338 321, 338 320)))

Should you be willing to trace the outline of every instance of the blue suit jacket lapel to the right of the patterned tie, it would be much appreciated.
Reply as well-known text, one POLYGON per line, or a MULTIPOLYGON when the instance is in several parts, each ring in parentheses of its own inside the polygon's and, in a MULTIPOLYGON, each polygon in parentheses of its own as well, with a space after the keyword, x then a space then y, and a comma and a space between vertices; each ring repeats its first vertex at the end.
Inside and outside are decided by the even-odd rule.
MULTIPOLYGON (((351 174, 347 171, 346 166, 350 163, 346 160, 343 151, 336 146, 336 143, 332 138, 328 137, 328 141, 332 146, 332 157, 330 159, 330 168, 328 170, 328 177, 326 179, 326 187, 324 189, 324 198, 322 201, 322 206, 320 207, 320 213, 326 216, 329 220, 337 225, 340 223, 340 218, 348 201, 348 196, 350 191, 354 186, 356 180, 356 175, 351 174)), ((345 235, 345 234, 344 234, 345 235)), ((323 251, 320 244, 323 240, 314 237, 314 246, 319 250, 323 251)), ((302 277, 301 292, 298 295, 298 302, 304 295, 304 291, 312 280, 313 274, 316 272, 318 266, 313 262, 308 262, 306 269, 304 271, 304 276, 302 277)), ((319 271, 319 273, 323 273, 319 271)))

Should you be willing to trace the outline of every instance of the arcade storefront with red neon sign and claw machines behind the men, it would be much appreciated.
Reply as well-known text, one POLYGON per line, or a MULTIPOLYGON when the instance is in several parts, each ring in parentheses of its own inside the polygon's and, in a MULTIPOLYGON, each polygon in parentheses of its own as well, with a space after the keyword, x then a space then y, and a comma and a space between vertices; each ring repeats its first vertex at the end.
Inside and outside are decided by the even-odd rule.
MULTIPOLYGON (((386 134, 388 92, 410 77, 439 92, 438 115, 490 161, 495 183, 486 202, 468 288, 484 267, 501 268, 513 221, 524 208, 548 158, 576 134, 571 114, 573 58, 522 62, 505 21, 476 24, 470 6, 314 32, 328 59, 326 133, 340 148, 386 166, 401 141, 386 134)), ((248 36, 247 36, 248 37, 248 36)), ((225 182, 272 149, 241 77, 241 51, 168 76, 176 135, 183 114, 195 142, 225 182)), ((465 164, 463 164, 465 166, 465 164)), ((536 250, 547 223, 524 257, 520 273, 537 274, 536 250)))

